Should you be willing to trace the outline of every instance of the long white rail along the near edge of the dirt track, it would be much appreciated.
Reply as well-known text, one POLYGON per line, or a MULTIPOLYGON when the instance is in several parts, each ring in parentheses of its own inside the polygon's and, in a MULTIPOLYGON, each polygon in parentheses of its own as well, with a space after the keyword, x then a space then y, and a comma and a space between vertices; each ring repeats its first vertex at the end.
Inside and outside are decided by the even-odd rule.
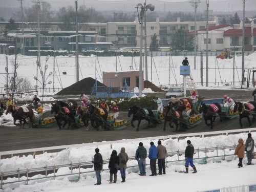
POLYGON ((0 152, 0 159, 3 155, 11 155, 14 154, 24 154, 24 153, 34 153, 34 152, 47 152, 51 150, 65 150, 67 148, 72 147, 84 147, 84 146, 99 146, 105 144, 113 144, 113 143, 127 143, 127 142, 140 142, 143 140, 165 140, 169 138, 186 138, 186 137, 193 137, 199 136, 204 138, 205 136, 212 136, 212 135, 228 135, 230 133, 246 133, 246 132, 256 132, 256 127, 254 128, 247 128, 247 129, 238 129, 238 130, 225 130, 225 131, 215 131, 215 132, 201 132, 201 133, 187 133, 187 134, 176 134, 176 135, 167 135, 167 136, 157 136, 157 137, 146 137, 146 138, 136 138, 136 139, 126 139, 126 140, 117 140, 117 141, 105 141, 105 142, 93 142, 93 143, 83 143, 83 144, 73 144, 73 145, 60 145, 60 146, 51 146, 51 147, 41 147, 41 148, 29 148, 26 150, 15 150, 15 151, 4 151, 0 152))

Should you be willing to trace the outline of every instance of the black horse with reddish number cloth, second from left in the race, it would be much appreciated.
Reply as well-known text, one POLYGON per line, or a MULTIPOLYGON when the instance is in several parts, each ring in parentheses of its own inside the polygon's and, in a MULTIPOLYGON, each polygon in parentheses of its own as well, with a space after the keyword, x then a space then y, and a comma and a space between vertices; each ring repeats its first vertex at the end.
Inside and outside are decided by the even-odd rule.
POLYGON ((53 113, 54 113, 54 117, 56 119, 57 125, 59 126, 60 130, 61 130, 61 125, 62 125, 61 121, 64 121, 64 124, 62 125, 62 129, 65 129, 65 126, 67 123, 69 123, 69 126, 68 126, 68 129, 69 129, 71 121, 75 122, 75 118, 71 112, 71 109, 66 106, 61 107, 58 104, 52 103, 51 114, 53 114, 53 113))

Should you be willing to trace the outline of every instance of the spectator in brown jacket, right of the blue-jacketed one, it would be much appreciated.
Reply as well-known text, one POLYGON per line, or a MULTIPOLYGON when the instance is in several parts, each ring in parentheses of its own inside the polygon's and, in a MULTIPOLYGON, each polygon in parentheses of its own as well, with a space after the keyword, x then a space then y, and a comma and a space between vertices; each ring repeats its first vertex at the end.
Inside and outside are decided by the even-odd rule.
POLYGON ((159 140, 157 142, 157 164, 158 164, 158 174, 165 174, 165 158, 167 155, 167 151, 165 146, 162 145, 162 142, 159 140), (163 171, 163 172, 162 172, 163 171))

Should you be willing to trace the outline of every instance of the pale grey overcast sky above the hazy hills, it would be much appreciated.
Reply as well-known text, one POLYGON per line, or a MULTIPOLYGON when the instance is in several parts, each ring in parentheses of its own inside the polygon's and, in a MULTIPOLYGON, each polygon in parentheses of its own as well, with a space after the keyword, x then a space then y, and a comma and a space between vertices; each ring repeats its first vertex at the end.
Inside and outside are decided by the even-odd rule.
MULTIPOLYGON (((22 0, 24 7, 30 7, 33 3, 32 0, 22 0)), ((37 1, 37 0, 33 0, 37 1)), ((75 0, 44 0, 51 4, 53 9, 58 9, 59 7, 63 6, 74 6, 75 7, 75 0)), ((145 0, 146 1, 146 0, 145 0)), ((12 7, 18 8, 19 7, 19 0, 0 0, 1 7, 12 7)), ((193 11, 193 7, 188 6, 189 1, 184 0, 147 0, 146 3, 152 3, 156 6, 155 11, 193 11), (169 3, 172 2, 172 3, 169 3)), ((94 7, 96 10, 121 10, 121 11, 135 11, 135 6, 138 3, 144 3, 144 1, 138 0, 129 0, 129 1, 117 1, 117 0, 78 0, 79 5, 85 5, 87 7, 94 7)), ((233 12, 243 10, 243 1, 242 0, 209 0, 209 9, 217 11, 225 11, 225 12, 233 12)), ((206 0, 201 0, 199 4, 198 11, 203 12, 206 10, 206 0)), ((246 0, 245 3, 245 10, 246 11, 253 11, 256 10, 256 3, 255 0, 246 0)))

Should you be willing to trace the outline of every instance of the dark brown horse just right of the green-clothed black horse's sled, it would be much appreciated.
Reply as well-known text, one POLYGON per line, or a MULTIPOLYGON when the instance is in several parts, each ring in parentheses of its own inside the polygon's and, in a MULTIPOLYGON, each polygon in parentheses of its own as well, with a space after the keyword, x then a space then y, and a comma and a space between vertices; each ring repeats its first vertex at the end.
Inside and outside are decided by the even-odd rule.
MULTIPOLYGON (((182 112, 175 111, 170 106, 164 106, 163 107, 163 114, 164 114, 164 125, 163 125, 163 131, 165 131, 166 122, 169 121, 170 128, 173 128, 172 122, 176 125, 175 132, 178 132, 179 127, 179 119, 183 119, 182 112)), ((181 125, 181 124, 180 124, 181 125)), ((182 125, 181 125, 182 126, 182 125)))

